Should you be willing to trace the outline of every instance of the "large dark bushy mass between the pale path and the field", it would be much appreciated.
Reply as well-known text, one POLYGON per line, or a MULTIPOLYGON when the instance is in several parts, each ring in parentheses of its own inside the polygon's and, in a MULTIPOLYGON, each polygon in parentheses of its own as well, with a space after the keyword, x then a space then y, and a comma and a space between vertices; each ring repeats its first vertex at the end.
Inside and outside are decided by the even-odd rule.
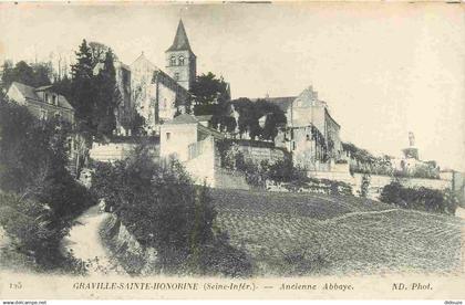
POLYGON ((144 146, 125 160, 97 164, 93 189, 143 245, 154 248, 165 274, 248 274, 247 257, 215 228, 207 189, 182 166, 156 164, 144 146))

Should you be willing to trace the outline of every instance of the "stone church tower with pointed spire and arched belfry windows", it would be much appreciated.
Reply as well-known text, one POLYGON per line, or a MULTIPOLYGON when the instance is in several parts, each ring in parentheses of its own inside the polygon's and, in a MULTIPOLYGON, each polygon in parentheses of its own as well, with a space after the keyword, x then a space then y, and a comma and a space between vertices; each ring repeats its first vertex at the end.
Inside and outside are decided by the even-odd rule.
POLYGON ((197 57, 190 50, 183 20, 179 20, 176 36, 165 54, 169 76, 186 90, 190 90, 197 73, 197 57))

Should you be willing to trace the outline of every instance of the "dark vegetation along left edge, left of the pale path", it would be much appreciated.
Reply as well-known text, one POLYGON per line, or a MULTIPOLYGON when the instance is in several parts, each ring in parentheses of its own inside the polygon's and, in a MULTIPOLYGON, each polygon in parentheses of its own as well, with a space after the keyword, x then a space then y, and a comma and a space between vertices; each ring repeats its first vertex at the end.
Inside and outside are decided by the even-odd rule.
POLYGON ((12 251, 41 270, 70 267, 59 241, 95 203, 66 169, 69 138, 64 123, 40 122, 24 106, 1 98, 0 225, 13 241, 12 251))

